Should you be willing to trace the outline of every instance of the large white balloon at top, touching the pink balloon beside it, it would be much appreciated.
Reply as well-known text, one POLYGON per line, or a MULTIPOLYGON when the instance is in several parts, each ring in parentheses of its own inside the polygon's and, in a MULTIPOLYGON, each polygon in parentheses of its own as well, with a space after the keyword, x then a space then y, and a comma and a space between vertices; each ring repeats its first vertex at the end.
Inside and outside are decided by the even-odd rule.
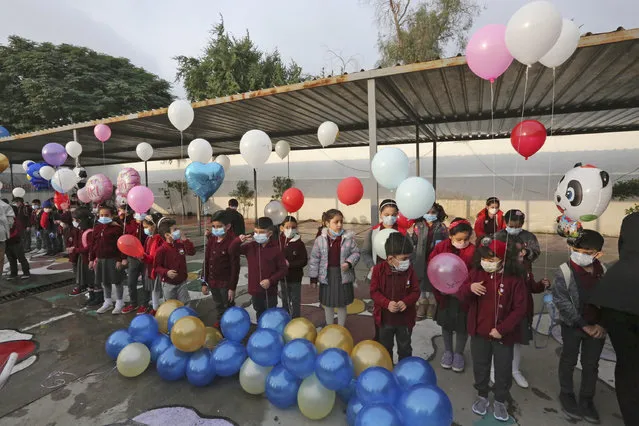
POLYGON ((525 65, 542 58, 559 39, 561 14, 549 1, 533 1, 521 7, 506 26, 506 47, 525 65))

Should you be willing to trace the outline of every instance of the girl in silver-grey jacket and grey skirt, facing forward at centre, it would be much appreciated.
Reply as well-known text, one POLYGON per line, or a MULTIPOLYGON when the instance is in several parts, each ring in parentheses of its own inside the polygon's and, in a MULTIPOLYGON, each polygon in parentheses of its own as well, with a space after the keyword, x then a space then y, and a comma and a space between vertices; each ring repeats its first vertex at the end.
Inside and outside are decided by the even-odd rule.
POLYGON ((352 232, 344 232, 344 215, 331 209, 322 215, 324 226, 315 239, 308 275, 311 286, 320 283, 320 303, 324 306, 326 325, 333 324, 337 308, 337 323, 346 324, 346 306, 355 299, 355 266, 359 248, 352 232))

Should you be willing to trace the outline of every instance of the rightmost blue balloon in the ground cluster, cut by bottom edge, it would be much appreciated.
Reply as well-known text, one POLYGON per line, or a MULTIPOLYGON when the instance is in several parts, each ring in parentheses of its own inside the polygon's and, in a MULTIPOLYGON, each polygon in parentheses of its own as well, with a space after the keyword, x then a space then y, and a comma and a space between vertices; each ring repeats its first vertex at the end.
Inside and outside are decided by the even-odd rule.
POLYGON ((402 394, 396 408, 407 425, 450 426, 453 423, 453 405, 437 386, 413 386, 402 394))

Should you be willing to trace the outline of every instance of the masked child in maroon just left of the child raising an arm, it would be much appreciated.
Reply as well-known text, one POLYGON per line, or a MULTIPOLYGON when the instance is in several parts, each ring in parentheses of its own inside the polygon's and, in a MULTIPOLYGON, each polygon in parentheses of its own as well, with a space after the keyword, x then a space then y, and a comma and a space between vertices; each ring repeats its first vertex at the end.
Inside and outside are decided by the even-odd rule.
POLYGON ((224 210, 218 210, 211 216, 211 225, 211 230, 206 231, 202 293, 211 292, 217 314, 215 327, 219 327, 222 315, 235 301, 235 289, 240 277, 240 257, 229 251, 235 240, 230 215, 224 210))

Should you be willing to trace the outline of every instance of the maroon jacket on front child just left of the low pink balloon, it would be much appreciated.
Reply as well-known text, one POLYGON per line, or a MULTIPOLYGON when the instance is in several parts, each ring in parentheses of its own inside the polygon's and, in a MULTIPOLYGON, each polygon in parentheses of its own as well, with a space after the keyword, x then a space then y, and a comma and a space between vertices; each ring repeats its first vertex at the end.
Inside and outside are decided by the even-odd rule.
POLYGON ((381 327, 382 311, 386 310, 389 318, 395 324, 402 324, 408 328, 415 326, 415 316, 417 312, 415 305, 419 299, 419 279, 412 266, 404 272, 396 272, 388 264, 381 262, 373 268, 371 276, 371 299, 375 302, 373 306, 373 317, 375 324, 381 327), (402 301, 406 304, 404 312, 391 313, 388 311, 388 304, 391 302, 402 301))

